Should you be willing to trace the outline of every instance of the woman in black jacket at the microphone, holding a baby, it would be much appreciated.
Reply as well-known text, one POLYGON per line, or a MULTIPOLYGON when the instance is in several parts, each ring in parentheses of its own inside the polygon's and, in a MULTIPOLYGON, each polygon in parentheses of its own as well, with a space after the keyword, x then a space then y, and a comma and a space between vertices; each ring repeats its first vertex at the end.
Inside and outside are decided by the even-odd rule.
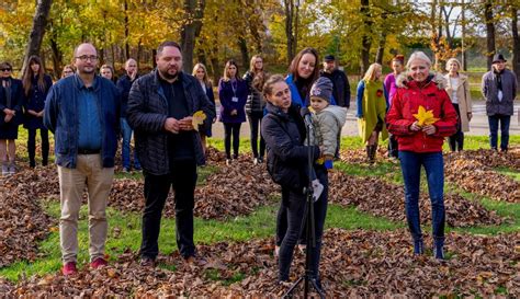
MULTIPOLYGON (((308 182, 307 151, 304 146, 305 124, 299 115, 299 107, 292 105, 291 90, 282 76, 273 76, 263 87, 268 100, 267 112, 262 122, 262 136, 268 148, 268 170, 273 181, 282 186, 280 209, 287 211, 287 231, 283 238, 279 254, 279 279, 289 281, 293 251, 301 235, 301 226, 305 210, 303 187, 308 182)), ((314 146, 314 160, 319 158, 319 148, 314 146)), ((314 203, 314 221, 316 246, 310 248, 310 275, 318 286, 318 265, 321 249, 325 216, 327 214, 328 177, 323 165, 315 164, 316 175, 324 185, 321 196, 314 203)))

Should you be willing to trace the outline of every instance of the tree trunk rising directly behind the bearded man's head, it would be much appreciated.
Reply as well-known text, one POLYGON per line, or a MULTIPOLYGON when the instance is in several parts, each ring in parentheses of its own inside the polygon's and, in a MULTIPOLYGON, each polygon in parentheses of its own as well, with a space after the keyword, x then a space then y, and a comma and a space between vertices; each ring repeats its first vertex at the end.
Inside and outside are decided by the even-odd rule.
POLYGON ((195 37, 201 33, 204 7, 204 0, 184 0, 185 21, 181 26, 181 48, 183 70, 188 73, 193 69, 193 49, 195 37))

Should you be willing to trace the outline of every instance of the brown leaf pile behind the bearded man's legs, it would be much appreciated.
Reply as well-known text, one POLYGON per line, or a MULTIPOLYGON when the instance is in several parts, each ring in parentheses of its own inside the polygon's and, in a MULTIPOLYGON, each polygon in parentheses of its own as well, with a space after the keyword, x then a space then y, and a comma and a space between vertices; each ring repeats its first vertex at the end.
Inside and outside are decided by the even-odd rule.
MULTIPOLYGON (((140 212, 145 204, 143 188, 143 181, 114 180, 109 205, 140 212)), ((229 166, 221 165, 203 186, 195 188, 194 215, 204 219, 249 215, 255 208, 268 204, 269 195, 276 189, 263 164, 253 165, 242 158, 229 166)), ((176 215, 173 197, 173 192, 170 192, 163 210, 166 217, 176 215)))

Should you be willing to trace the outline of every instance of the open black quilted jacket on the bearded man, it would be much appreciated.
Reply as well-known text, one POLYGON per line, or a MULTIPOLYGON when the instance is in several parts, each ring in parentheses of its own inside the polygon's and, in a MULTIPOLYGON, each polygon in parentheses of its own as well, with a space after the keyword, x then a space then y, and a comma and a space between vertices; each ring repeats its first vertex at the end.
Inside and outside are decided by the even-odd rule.
MULTIPOLYGON (((165 122, 168 118, 168 101, 159 82, 157 70, 140 77, 133 84, 128 95, 126 117, 135 130, 135 143, 140 165, 146 172, 163 175, 170 172, 168 159, 168 133, 165 122)), ((201 89, 199 81, 181 72, 188 108, 193 113, 203 111, 206 118, 215 117, 215 107, 201 89)), ((201 137, 192 131, 195 159, 199 165, 204 163, 201 137)))

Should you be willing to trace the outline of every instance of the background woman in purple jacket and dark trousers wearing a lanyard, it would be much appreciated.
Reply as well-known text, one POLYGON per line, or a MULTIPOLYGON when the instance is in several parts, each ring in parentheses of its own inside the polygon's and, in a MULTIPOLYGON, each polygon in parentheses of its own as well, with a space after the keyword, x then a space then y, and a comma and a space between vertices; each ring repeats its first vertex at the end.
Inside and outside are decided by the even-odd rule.
POLYGON ((246 101, 249 89, 246 81, 240 79, 235 60, 226 62, 224 78, 218 82, 218 97, 221 100, 221 122, 224 124, 224 147, 226 149, 226 164, 238 158, 240 145, 240 126, 246 122, 246 101))

